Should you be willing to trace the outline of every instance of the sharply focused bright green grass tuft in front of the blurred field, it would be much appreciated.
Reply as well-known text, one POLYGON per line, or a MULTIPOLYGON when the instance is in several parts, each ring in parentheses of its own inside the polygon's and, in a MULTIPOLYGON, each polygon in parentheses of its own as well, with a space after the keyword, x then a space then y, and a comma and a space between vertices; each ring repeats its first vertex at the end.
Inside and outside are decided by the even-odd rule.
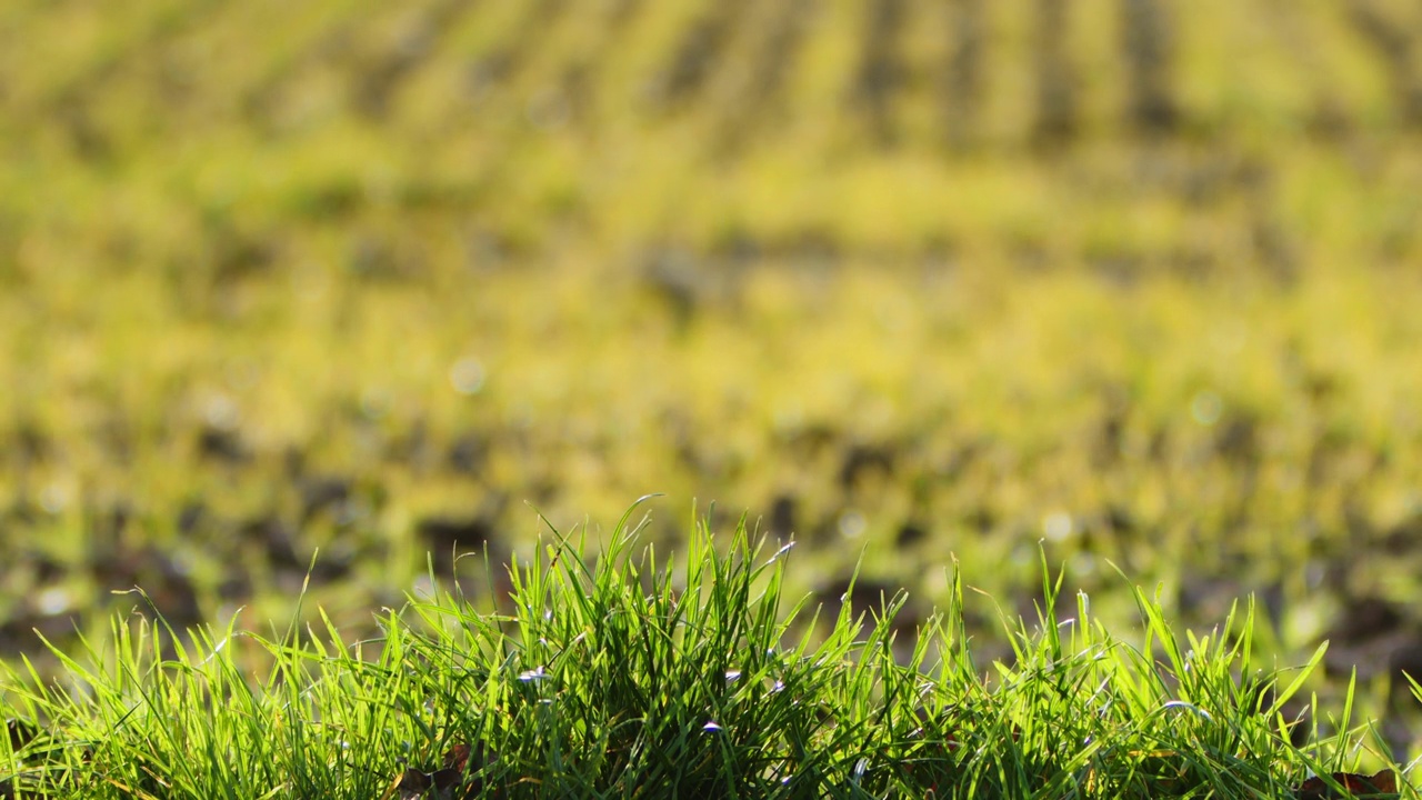
POLYGON ((412 599, 373 641, 117 623, 64 680, 6 678, 0 796, 1324 797, 1310 774, 1357 766, 1348 707, 1294 736, 1318 656, 1256 670, 1250 612, 1182 641, 1138 591, 1128 643, 1081 595, 978 665, 957 581, 909 653, 903 598, 818 621, 785 605, 789 547, 698 527, 674 565, 630 514, 596 559, 559 537, 510 568, 501 612, 412 599))

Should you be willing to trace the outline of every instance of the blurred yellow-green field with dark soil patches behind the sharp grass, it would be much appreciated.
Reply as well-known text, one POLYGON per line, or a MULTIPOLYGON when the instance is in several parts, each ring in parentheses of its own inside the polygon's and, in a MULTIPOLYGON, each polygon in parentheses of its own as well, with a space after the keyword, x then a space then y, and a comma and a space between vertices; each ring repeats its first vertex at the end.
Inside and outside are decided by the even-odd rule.
POLYGON ((956 558, 1030 612, 1038 542, 1108 616, 1108 561, 1260 592, 1384 713, 1419 48, 1404 0, 6 3, 0 652, 135 584, 284 621, 316 548, 360 629, 664 493, 826 596, 956 558))

